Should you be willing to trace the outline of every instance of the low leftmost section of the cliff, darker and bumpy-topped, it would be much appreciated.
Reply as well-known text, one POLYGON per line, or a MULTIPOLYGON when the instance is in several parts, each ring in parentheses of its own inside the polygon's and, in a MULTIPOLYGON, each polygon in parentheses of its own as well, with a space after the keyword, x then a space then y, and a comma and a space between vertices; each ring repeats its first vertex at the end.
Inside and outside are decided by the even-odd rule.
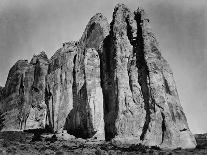
POLYGON ((2 130, 27 130, 45 127, 45 75, 48 59, 44 52, 31 63, 19 60, 9 71, 1 100, 2 130))

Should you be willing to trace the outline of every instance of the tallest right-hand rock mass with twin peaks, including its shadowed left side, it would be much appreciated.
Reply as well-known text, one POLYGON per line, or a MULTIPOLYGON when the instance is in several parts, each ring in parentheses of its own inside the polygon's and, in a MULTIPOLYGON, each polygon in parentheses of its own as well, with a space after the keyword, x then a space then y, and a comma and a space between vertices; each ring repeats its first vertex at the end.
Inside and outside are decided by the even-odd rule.
POLYGON ((106 135, 121 144, 193 148, 172 71, 148 22, 141 9, 114 10, 104 49, 106 135))

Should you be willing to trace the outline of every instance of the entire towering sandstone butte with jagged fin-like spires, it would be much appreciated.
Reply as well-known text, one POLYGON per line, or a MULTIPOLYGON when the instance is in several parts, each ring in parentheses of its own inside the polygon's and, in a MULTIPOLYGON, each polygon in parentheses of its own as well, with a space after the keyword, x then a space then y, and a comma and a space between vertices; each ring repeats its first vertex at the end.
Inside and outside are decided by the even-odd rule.
POLYGON ((116 5, 48 59, 19 60, 0 87, 1 131, 49 129, 116 145, 195 148, 172 70, 144 10, 116 5))

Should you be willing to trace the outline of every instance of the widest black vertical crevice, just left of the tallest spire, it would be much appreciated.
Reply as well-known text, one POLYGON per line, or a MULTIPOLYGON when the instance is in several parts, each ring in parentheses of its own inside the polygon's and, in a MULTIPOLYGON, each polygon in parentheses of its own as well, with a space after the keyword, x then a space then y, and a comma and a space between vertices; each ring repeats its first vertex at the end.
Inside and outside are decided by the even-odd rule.
MULTIPOLYGON (((115 18, 113 14, 113 19, 115 18)), ((109 35, 103 41, 103 52, 100 54, 100 75, 101 88, 103 92, 103 108, 104 108, 104 130, 105 140, 109 141, 117 134, 115 120, 118 116, 118 105, 115 97, 115 81, 114 81, 114 49, 113 49, 113 25, 114 20, 110 23, 109 35), (112 105, 113 104, 113 105, 112 105), (114 105, 115 104, 115 105, 114 105), (109 114, 113 113, 113 118, 109 118, 109 114), (111 119, 111 120, 109 120, 111 119)))

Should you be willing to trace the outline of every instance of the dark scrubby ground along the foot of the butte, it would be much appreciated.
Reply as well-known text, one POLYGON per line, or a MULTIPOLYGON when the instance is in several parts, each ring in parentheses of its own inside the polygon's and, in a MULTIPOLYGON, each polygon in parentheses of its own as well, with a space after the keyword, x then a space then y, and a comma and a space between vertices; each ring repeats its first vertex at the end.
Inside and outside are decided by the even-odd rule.
POLYGON ((84 139, 57 140, 42 137, 41 141, 32 142, 33 134, 24 132, 1 132, 0 154, 48 154, 48 155, 200 155, 207 154, 207 139, 197 139, 198 146, 191 150, 160 150, 140 145, 118 148, 110 142, 84 139))

